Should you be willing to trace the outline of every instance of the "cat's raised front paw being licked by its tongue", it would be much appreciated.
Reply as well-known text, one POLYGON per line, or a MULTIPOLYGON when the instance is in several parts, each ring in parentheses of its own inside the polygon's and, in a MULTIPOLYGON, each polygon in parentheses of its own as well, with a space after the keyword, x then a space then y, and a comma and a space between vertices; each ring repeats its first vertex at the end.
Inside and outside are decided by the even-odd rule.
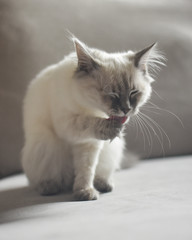
POLYGON ((113 140, 119 136, 122 126, 119 119, 104 119, 98 125, 98 138, 101 140, 113 140))

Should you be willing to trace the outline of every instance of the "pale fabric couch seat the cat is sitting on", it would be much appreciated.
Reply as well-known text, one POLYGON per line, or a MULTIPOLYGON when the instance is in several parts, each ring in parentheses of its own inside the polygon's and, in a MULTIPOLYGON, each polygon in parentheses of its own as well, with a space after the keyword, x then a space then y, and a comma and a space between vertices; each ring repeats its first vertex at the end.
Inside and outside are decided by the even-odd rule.
POLYGON ((97 201, 38 196, 24 175, 0 181, 0 238, 192 239, 192 157, 145 161, 117 172, 97 201))

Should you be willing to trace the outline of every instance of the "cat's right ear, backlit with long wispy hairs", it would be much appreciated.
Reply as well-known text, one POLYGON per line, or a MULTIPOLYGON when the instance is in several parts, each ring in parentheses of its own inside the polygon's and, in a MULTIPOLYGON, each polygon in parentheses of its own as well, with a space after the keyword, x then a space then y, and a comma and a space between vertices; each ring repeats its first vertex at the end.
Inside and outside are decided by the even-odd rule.
POLYGON ((148 63, 150 63, 151 59, 154 58, 154 52, 157 43, 153 43, 147 48, 136 52, 134 55, 134 65, 139 68, 141 71, 146 71, 148 67, 148 63))

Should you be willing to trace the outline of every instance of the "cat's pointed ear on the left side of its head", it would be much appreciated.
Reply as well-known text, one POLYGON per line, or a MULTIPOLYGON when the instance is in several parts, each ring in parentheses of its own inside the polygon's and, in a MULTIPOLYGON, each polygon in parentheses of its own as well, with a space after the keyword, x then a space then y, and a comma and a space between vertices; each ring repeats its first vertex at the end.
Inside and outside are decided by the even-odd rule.
POLYGON ((91 72, 98 67, 98 63, 91 56, 88 47, 79 39, 73 38, 78 58, 78 71, 91 72))

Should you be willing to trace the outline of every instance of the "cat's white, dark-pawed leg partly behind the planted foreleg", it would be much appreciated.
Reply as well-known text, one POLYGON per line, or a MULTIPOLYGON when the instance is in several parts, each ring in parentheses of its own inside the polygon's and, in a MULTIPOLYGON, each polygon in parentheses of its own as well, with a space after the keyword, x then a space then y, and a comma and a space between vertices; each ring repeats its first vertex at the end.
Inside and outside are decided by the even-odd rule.
POLYGON ((100 152, 94 179, 94 186, 99 192, 106 193, 113 190, 113 173, 120 166, 123 149, 123 138, 116 137, 112 142, 105 142, 100 152))

